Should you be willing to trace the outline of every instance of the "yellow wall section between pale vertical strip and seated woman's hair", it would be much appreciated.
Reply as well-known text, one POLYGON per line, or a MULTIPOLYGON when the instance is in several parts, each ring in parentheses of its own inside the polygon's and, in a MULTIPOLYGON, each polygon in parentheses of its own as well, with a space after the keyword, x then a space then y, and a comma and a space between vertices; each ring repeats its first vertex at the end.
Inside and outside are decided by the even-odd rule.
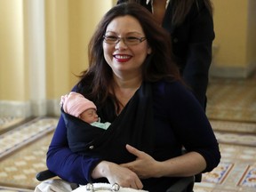
POLYGON ((47 98, 56 99, 76 84, 87 68, 87 44, 111 1, 47 0, 47 98))

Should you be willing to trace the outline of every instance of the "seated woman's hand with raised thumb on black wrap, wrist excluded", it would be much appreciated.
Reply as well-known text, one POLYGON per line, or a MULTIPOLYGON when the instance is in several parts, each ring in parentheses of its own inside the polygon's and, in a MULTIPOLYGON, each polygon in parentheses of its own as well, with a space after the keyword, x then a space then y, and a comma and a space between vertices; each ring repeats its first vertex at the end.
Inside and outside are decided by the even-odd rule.
POLYGON ((130 169, 132 172, 135 172, 140 179, 147 179, 151 177, 158 177, 159 171, 159 162, 157 162, 152 156, 149 156, 147 153, 133 148, 130 145, 126 145, 126 149, 137 156, 136 160, 127 164, 120 164, 122 167, 130 169))

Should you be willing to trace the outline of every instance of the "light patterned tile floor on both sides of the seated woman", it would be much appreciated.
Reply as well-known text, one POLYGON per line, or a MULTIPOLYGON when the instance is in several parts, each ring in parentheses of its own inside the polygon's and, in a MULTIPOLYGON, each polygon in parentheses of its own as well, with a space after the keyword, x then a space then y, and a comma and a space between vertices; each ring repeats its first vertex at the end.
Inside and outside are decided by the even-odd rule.
MULTIPOLYGON (((28 130, 22 131, 22 126, 19 128, 20 135, 25 134, 26 136, 20 137, 20 147, 17 147, 19 144, 13 143, 13 148, 17 148, 15 152, 4 153, 4 156, 0 158, 0 186, 23 188, 27 191, 35 188, 39 183, 35 179, 36 172, 46 168, 45 153, 56 123, 56 118, 44 118, 37 119, 33 124, 27 124, 28 130, 34 127, 34 132, 37 129, 37 132, 44 132, 44 136, 30 140, 26 144, 22 142, 28 138, 35 138, 35 136, 28 135, 28 130)), ((211 123, 213 129, 214 124, 219 126, 221 124, 220 121, 215 122, 214 120, 211 123)), ((235 130, 241 128, 240 123, 224 122, 222 125, 223 130, 227 130, 231 125, 235 130)), ((253 130, 255 127, 251 128, 253 130)), ((23 127, 23 129, 25 128, 23 127)), ((229 136, 230 132, 220 132, 220 127, 215 132, 220 141, 221 164, 214 171, 203 175, 203 181, 196 183, 195 192, 256 191, 256 181, 254 180, 256 178, 256 135, 244 133, 245 138, 248 136, 252 140, 252 143, 248 145, 247 139, 241 140, 240 132, 232 132, 232 137, 229 136), (225 140, 225 143, 222 140, 225 140)), ((41 134, 43 135, 43 133, 41 134)), ((2 145, 3 143, 1 143, 2 145)), ((4 150, 1 148, 0 153, 3 153, 4 150)), ((15 191, 15 189, 13 190, 15 191)))

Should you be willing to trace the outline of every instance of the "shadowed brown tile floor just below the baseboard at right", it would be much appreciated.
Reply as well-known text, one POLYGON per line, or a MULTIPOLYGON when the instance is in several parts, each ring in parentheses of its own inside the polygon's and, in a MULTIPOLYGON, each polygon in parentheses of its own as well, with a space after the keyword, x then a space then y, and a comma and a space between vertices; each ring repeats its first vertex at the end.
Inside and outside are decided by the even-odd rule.
POLYGON ((209 118, 256 122, 256 73, 245 80, 211 78, 207 97, 209 118))

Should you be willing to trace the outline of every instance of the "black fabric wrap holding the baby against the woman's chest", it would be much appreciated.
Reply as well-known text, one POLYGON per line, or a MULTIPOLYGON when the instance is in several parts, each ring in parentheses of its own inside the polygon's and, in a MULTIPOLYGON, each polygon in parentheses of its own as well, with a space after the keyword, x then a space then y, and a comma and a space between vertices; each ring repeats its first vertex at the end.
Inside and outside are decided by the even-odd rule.
MULTIPOLYGON (((126 144, 151 155, 155 133, 152 106, 151 84, 143 83, 107 130, 70 116, 61 108, 67 125, 69 148, 84 156, 94 156, 116 164, 135 159, 126 150, 126 144)), ((105 116, 104 119, 108 121, 105 116)))

